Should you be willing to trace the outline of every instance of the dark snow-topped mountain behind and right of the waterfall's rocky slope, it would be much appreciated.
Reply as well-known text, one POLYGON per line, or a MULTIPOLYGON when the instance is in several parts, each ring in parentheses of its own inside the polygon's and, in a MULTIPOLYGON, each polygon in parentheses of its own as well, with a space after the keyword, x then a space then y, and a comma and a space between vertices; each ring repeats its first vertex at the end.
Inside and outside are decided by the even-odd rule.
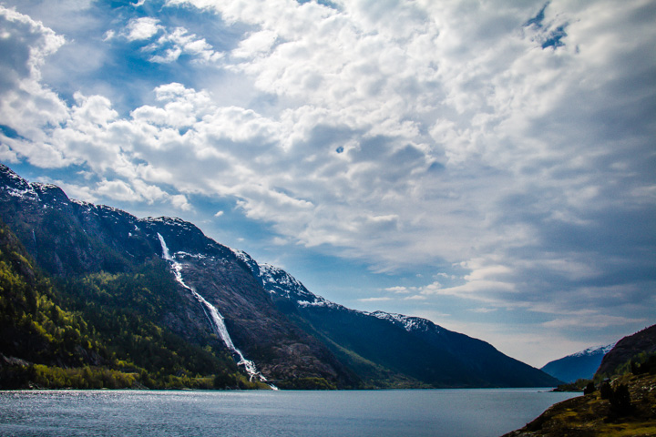
POLYGON ((485 341, 446 330, 430 320, 383 311, 350 310, 307 290, 282 269, 235 253, 292 320, 380 386, 552 386, 558 380, 513 360, 485 341))

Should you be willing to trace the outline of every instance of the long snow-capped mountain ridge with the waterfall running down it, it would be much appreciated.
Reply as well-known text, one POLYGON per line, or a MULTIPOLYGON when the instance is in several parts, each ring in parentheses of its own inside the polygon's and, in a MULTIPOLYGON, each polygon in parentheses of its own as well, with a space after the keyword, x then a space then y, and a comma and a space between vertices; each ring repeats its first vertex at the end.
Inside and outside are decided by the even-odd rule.
POLYGON ((11 330, 29 340, 18 327, 30 319, 37 320, 36 331, 45 331, 36 337, 48 339, 48 332, 70 328, 72 322, 62 320, 77 320, 67 343, 68 355, 77 358, 58 356, 63 342, 39 343, 52 352, 45 355, 30 353, 29 341, 5 342, 0 367, 6 374, 26 365, 44 372, 43 365, 62 369, 56 373, 64 375, 62 383, 74 384, 79 375, 71 369, 91 365, 117 372, 124 385, 132 378, 156 387, 206 386, 208 378, 214 387, 280 388, 558 382, 430 320, 324 300, 284 270, 220 245, 184 220, 138 219, 70 199, 54 185, 29 183, 1 165, 0 219, 7 239, 15 239, 5 252, 22 253, 36 272, 20 273, 15 262, 7 271, 22 284, 15 301, 46 296, 58 309, 46 314, 38 305, 5 306, 14 316, 3 336, 11 330), (34 275, 48 291, 26 298, 34 275))

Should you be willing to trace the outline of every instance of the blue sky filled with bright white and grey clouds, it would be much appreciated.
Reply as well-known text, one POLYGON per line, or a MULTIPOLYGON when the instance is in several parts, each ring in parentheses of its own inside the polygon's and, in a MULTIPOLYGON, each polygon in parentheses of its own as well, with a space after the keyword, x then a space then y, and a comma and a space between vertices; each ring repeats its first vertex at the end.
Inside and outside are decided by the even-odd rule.
POLYGON ((0 0, 0 162, 541 367, 656 322, 652 0, 0 0))

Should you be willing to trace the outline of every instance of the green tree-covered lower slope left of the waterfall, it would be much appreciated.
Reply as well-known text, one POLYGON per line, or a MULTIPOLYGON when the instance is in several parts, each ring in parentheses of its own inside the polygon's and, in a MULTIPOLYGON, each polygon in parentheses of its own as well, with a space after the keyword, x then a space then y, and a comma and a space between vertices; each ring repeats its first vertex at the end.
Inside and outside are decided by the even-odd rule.
POLYGON ((161 320, 179 306, 167 265, 48 279, 0 229, 0 388, 263 388, 217 339, 182 339, 161 320))

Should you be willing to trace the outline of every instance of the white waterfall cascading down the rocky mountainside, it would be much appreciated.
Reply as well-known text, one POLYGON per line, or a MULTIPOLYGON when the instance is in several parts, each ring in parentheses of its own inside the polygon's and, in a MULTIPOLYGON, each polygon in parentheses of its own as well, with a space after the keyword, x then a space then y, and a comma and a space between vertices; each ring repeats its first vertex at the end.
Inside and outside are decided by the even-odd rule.
POLYGON ((173 259, 173 257, 171 257, 169 253, 169 248, 166 245, 166 241, 164 241, 164 238, 159 234, 159 232, 158 232, 158 238, 159 238, 159 243, 161 244, 162 247, 162 258, 170 262, 171 269, 173 269, 173 274, 175 275, 175 279, 182 287, 185 288, 185 290, 189 290, 191 295, 200 302, 200 304, 203 307, 203 311, 205 311, 205 315, 207 315, 208 319, 210 320, 210 325, 212 326, 212 328, 216 331, 217 335, 219 335, 220 339, 223 340, 223 343, 225 343, 226 347, 234 355, 239 357, 239 361, 237 361, 237 365, 243 366, 244 370, 249 375, 250 381, 252 381, 253 378, 256 378, 258 381, 266 382, 273 390, 278 390, 272 383, 267 381, 267 379, 264 377, 264 375, 261 374, 260 371, 257 370, 255 363, 251 360, 247 360, 243 356, 243 353, 241 353, 241 351, 235 347, 234 343, 232 342, 231 336, 228 333, 228 328, 225 325, 223 316, 220 315, 219 310, 217 310, 217 308, 214 305, 212 305, 210 302, 208 302, 205 298, 200 296, 198 291, 194 290, 184 282, 184 280, 182 279, 182 265, 178 261, 173 259))

